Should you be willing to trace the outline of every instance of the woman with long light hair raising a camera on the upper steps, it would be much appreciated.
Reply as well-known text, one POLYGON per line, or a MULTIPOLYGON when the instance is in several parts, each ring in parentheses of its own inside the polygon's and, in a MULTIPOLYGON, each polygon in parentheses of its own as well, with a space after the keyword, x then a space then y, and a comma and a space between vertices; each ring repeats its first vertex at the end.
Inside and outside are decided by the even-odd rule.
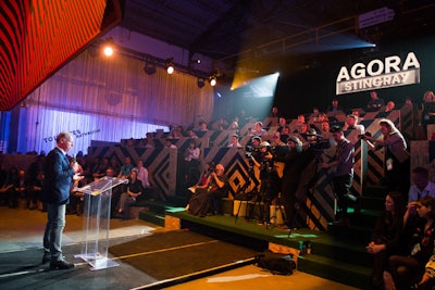
POLYGON ((385 161, 388 190, 400 191, 403 197, 407 197, 410 186, 410 154, 407 151, 407 141, 391 121, 382 118, 380 127, 383 139, 376 139, 366 134, 362 135, 361 138, 371 149, 386 148, 385 161))

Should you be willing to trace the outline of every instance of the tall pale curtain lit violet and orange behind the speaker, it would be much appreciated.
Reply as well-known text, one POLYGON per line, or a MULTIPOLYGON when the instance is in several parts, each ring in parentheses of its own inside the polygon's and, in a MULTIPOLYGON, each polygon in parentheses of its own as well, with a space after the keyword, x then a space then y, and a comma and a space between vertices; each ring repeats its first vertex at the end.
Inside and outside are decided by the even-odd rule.
POLYGON ((76 153, 86 152, 91 140, 120 142, 169 125, 188 126, 198 116, 210 121, 210 85, 198 88, 197 77, 159 67, 147 75, 144 64, 82 53, 22 103, 18 151, 48 152, 60 131, 74 134, 76 153))

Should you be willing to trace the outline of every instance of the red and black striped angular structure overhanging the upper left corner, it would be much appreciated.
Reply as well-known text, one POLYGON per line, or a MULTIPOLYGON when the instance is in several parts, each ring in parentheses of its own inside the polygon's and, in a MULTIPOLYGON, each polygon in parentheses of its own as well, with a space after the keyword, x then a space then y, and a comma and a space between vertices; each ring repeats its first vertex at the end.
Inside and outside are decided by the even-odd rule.
MULTIPOLYGON (((100 35, 117 2, 0 1, 0 111, 11 110, 100 35)), ((109 21, 113 27, 121 13, 109 21)))

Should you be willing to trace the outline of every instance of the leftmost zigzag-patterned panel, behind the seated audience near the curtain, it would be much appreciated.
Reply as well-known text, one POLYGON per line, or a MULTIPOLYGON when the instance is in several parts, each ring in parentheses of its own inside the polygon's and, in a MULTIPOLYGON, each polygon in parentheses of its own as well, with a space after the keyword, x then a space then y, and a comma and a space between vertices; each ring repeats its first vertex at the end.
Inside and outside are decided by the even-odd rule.
POLYGON ((177 150, 176 149, 150 149, 150 148, 125 148, 125 147, 95 147, 89 149, 92 157, 115 157, 123 164, 126 156, 133 163, 142 160, 149 172, 149 179, 163 196, 175 196, 177 150))

